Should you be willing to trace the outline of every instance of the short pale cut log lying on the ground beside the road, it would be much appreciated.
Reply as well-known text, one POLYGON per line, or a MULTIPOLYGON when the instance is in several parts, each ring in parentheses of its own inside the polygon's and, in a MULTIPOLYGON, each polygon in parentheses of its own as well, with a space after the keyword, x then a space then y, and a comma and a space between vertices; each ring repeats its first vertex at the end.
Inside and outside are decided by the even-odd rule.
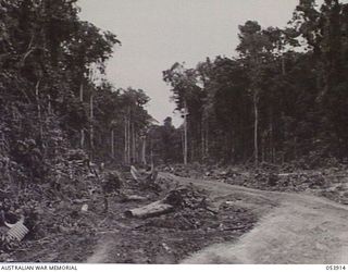
POLYGON ((147 206, 127 210, 125 211, 125 215, 129 218, 150 218, 156 215, 161 215, 164 213, 169 213, 174 210, 174 206, 164 203, 162 200, 149 203, 147 206))

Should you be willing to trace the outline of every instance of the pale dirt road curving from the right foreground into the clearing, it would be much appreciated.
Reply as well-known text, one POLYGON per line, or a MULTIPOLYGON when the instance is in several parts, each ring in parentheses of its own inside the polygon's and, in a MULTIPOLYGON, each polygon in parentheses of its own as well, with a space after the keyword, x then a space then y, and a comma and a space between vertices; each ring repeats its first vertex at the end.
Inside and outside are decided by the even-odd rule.
POLYGON ((210 246, 183 263, 348 263, 348 207, 303 194, 271 193, 224 183, 177 177, 210 193, 216 205, 228 199, 261 217, 237 243, 210 246))

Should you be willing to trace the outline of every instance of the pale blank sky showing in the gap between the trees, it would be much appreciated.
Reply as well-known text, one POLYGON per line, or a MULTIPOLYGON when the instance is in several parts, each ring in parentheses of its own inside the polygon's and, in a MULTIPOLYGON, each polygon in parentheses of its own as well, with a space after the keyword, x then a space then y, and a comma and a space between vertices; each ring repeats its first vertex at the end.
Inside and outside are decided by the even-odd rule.
MULTIPOLYGON (((175 62, 195 66, 207 57, 232 57, 238 25, 285 26, 299 0, 79 0, 80 17, 117 35, 108 63, 115 87, 144 89, 149 113, 160 123, 174 118, 170 87, 162 71, 175 62)), ((181 123, 174 118, 174 124, 181 123)))

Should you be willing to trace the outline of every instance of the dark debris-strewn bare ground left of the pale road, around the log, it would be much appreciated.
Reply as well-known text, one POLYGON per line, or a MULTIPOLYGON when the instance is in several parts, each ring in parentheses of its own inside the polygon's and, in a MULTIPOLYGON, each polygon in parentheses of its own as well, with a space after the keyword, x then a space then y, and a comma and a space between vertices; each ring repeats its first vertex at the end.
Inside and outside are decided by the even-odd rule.
MULTIPOLYGON (((159 181, 163 183, 159 195, 128 186, 128 194, 145 196, 147 201, 124 202, 117 195, 110 197, 107 213, 102 212, 101 200, 90 203, 87 212, 80 211, 80 203, 72 205, 69 209, 75 213, 76 227, 52 228, 46 237, 25 240, 0 258, 16 262, 178 263, 209 245, 236 240, 257 222, 249 209, 229 202, 219 207, 210 202, 211 211, 189 206, 148 219, 125 217, 125 211, 163 198, 178 186, 174 181, 159 181)), ((196 195, 210 199, 204 190, 196 195)))

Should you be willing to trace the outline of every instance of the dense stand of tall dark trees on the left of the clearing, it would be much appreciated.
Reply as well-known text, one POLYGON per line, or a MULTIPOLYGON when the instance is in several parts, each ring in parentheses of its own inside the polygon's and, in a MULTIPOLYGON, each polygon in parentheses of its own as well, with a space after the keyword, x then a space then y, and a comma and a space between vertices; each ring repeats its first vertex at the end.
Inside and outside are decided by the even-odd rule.
POLYGON ((144 90, 103 79, 121 41, 78 13, 76 0, 0 1, 0 154, 33 170, 23 158, 36 148, 41 162, 32 180, 69 149, 122 163, 126 113, 133 149, 150 122, 144 90))

